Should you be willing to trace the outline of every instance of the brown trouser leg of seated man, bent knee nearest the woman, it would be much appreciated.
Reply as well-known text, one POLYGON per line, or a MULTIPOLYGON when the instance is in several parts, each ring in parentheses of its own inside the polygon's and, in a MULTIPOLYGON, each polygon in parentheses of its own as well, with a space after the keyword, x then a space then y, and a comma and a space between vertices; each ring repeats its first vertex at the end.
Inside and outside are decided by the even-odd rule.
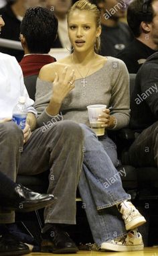
POLYGON ((58 199, 45 209, 46 223, 76 223, 76 188, 83 159, 83 132, 71 121, 38 128, 25 144, 19 173, 35 175, 50 169, 48 193, 58 199))

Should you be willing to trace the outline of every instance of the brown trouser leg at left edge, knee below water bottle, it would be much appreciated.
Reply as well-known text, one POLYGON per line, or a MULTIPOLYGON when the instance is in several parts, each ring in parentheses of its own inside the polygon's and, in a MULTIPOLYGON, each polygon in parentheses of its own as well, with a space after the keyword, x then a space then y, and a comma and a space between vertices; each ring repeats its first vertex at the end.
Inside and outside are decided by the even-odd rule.
MULTIPOLYGON (((0 124, 0 171, 13 181, 16 179, 19 158, 23 148, 23 132, 13 122, 0 124)), ((13 211, 0 210, 0 223, 15 221, 13 211)))

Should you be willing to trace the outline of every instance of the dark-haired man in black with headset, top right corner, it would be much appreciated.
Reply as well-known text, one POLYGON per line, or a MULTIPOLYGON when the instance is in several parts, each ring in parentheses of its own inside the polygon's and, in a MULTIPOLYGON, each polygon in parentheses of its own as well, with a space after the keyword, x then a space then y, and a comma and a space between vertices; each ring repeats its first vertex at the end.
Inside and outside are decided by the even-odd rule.
POLYGON ((127 21, 135 39, 116 57, 125 62, 129 73, 137 73, 145 60, 158 50, 158 1, 132 1, 127 9, 127 21))

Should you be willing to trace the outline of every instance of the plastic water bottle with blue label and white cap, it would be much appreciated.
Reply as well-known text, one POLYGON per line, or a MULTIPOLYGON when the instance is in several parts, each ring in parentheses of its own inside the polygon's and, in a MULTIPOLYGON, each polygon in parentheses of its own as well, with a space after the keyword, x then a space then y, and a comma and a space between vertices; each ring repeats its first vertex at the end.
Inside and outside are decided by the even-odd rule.
POLYGON ((27 109, 25 106, 25 97, 19 97, 17 105, 13 108, 12 121, 15 122, 21 129, 25 128, 25 122, 27 118, 27 109))

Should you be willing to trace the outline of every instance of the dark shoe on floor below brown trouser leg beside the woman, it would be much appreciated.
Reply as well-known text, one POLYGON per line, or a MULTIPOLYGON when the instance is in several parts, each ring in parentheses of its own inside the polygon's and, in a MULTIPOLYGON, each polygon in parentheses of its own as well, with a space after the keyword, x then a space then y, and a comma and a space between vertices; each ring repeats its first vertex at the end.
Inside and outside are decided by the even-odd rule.
POLYGON ((43 253, 76 253, 78 247, 68 233, 60 228, 60 224, 52 224, 46 232, 42 232, 41 251, 43 253))

